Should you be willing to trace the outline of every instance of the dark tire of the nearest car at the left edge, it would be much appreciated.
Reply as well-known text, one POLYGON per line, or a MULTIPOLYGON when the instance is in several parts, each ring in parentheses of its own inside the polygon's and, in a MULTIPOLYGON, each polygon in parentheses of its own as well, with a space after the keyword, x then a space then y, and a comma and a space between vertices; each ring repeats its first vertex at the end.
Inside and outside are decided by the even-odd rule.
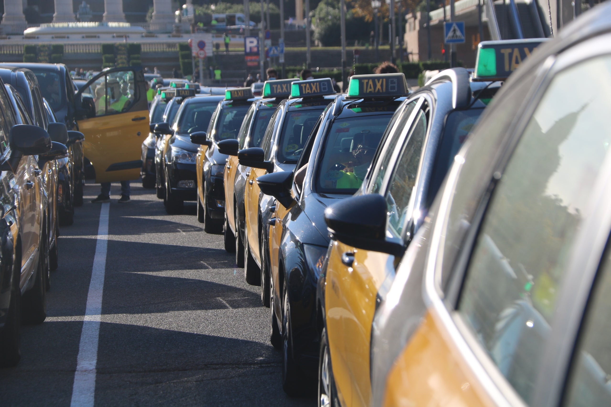
MULTIPOLYGON (((16 259, 17 260, 17 259, 16 259)), ((0 330, 0 367, 16 366, 21 359, 21 291, 19 289, 21 261, 13 264, 13 284, 9 312, 0 330)))

